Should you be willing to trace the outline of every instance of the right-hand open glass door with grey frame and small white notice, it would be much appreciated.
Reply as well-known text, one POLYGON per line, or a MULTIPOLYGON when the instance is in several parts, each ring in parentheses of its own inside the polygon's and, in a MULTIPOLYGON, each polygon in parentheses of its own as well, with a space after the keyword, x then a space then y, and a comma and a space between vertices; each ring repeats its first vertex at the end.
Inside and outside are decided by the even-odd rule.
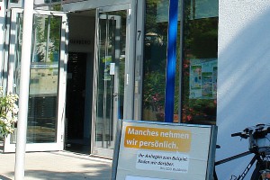
POLYGON ((123 118, 129 5, 97 10, 95 47, 94 146, 112 157, 116 123, 123 118))

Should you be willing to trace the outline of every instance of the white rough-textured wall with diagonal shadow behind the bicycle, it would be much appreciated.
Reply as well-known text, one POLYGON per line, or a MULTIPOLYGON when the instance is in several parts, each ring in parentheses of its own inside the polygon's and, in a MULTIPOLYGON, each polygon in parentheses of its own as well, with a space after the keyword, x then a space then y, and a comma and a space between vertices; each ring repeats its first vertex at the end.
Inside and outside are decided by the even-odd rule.
MULTIPOLYGON (((219 6, 217 160, 247 150, 247 140, 231 133, 270 122, 270 0, 220 0, 219 6)), ((248 159, 218 166, 220 179, 238 175, 248 159)))

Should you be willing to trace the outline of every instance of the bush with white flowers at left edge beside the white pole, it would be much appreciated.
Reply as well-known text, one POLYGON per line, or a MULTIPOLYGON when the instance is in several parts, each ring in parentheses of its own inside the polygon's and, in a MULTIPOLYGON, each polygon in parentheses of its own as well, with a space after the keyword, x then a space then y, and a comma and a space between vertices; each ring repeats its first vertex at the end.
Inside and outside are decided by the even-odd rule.
POLYGON ((0 139, 14 132, 19 112, 18 98, 17 94, 4 94, 3 87, 0 87, 0 139))

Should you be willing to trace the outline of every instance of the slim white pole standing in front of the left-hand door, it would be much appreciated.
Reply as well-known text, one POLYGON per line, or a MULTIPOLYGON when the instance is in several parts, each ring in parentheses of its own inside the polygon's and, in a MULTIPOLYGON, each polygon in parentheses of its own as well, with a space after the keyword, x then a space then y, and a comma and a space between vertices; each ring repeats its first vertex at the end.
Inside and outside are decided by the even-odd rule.
POLYGON ((21 59, 21 82, 19 114, 17 126, 15 180, 23 180, 25 164, 25 145, 28 115, 29 78, 31 65, 31 32, 32 32, 33 0, 24 1, 23 11, 23 45, 21 59))

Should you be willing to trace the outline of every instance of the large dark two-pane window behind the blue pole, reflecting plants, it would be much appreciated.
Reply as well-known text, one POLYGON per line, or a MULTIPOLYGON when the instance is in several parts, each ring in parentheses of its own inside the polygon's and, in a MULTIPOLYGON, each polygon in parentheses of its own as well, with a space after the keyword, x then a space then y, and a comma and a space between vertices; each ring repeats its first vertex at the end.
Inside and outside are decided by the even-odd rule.
MULTIPOLYGON (((179 0, 175 122, 216 121, 218 4, 218 0, 185 0, 181 23, 179 0)), ((147 121, 164 121, 168 7, 169 0, 146 1, 142 119, 147 121)))

